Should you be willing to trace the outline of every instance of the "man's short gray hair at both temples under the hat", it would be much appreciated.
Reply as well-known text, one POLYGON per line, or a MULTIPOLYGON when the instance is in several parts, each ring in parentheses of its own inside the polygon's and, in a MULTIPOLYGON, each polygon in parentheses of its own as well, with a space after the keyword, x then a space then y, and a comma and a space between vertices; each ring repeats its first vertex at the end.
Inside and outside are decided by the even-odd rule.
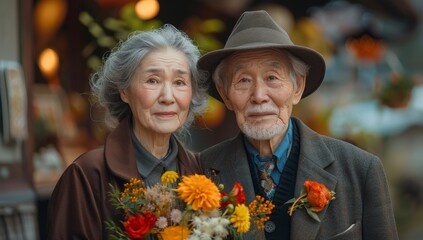
MULTIPOLYGON (((310 67, 286 50, 277 49, 277 51, 284 54, 289 60, 289 77, 292 80, 294 89, 297 89, 297 79, 301 76, 307 76, 310 67)), ((220 61, 212 75, 214 84, 222 86, 225 94, 228 94, 230 84, 229 79, 227 79, 228 74, 226 73, 228 59, 229 57, 226 57, 220 61)))

